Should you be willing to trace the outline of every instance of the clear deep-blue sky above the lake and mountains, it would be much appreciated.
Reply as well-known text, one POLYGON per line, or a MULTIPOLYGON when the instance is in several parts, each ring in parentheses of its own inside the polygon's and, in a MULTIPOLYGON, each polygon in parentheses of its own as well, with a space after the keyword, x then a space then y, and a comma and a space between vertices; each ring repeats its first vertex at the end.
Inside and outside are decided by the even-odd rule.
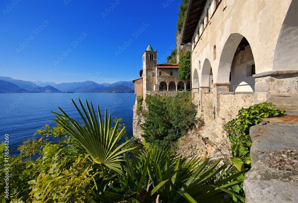
POLYGON ((92 80, 98 71, 100 74, 95 74, 93 80, 97 83, 137 79, 148 43, 158 50, 159 62, 166 63, 162 55, 165 57, 176 44, 180 3, 180 0, 3 0, 0 76, 83 82, 92 80), (109 7, 110 13, 106 11, 109 7), (130 38, 131 43, 120 53, 119 46, 130 38), (68 49, 71 52, 67 54, 68 49))

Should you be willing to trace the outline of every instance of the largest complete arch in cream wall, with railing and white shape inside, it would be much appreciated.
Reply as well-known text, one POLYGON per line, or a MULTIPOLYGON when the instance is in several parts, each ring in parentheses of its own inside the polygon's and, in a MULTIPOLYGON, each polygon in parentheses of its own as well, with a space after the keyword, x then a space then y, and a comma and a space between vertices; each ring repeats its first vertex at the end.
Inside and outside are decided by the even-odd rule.
POLYGON ((227 39, 218 67, 218 83, 231 83, 230 92, 254 92, 255 63, 248 40, 239 33, 227 39))

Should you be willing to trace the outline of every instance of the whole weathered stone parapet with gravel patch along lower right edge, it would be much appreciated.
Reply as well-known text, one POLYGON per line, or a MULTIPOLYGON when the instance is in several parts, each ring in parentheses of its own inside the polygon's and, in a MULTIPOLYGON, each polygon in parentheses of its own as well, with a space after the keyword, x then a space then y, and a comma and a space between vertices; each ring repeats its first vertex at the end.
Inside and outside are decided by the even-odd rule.
POLYGON ((298 96, 272 95, 268 102, 286 112, 250 128, 246 202, 298 202, 298 96))

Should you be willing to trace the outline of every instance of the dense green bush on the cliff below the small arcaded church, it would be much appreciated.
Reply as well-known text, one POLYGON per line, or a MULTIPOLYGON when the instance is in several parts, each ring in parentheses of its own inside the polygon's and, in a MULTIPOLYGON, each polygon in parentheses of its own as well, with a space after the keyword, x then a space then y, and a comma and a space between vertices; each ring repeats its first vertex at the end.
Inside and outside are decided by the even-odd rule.
POLYGON ((148 111, 145 118, 143 138, 147 143, 158 146, 175 146, 176 141, 194 124, 196 106, 187 96, 189 92, 178 93, 176 97, 147 95, 148 111))

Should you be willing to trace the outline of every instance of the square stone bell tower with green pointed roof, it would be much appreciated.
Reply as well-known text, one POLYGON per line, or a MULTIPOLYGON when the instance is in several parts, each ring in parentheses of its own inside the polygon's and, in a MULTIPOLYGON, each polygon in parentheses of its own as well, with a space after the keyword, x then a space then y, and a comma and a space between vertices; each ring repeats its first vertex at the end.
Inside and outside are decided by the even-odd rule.
POLYGON ((155 85, 155 66, 157 65, 157 50, 154 51, 149 44, 143 56, 143 94, 147 90, 153 90, 155 85))

